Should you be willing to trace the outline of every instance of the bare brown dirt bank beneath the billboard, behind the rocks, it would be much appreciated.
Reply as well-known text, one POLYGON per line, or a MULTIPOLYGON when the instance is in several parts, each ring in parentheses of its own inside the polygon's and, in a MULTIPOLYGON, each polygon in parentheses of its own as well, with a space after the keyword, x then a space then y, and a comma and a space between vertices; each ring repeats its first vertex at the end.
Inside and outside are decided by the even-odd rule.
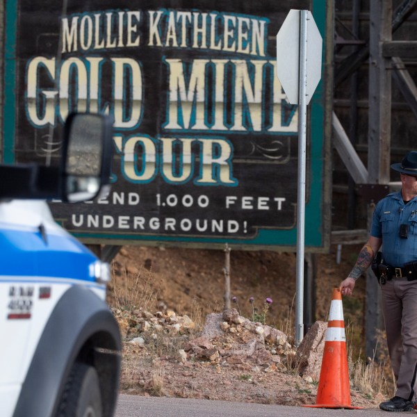
MULTIPOLYGON (((336 263, 336 247, 332 247, 330 254, 318 255, 316 320, 326 320, 332 288, 350 272, 360 247, 343 247, 340 264, 336 263)), ((142 288, 147 281, 149 288, 145 292, 152 293, 151 310, 165 305, 166 309, 179 314, 190 316, 197 309, 205 316, 223 309, 224 261, 222 250, 123 247, 114 259, 113 276, 117 286, 128 288, 130 295, 137 284, 142 288)), ((250 317, 249 298, 254 297, 254 306, 262 309, 264 300, 270 297, 273 302, 268 311, 268 324, 280 327, 288 318, 293 319, 295 261, 293 253, 231 250, 231 297, 238 297, 238 305, 234 306, 243 316, 250 317)), ((351 315, 351 304, 354 304, 354 312, 363 308, 363 288, 364 279, 361 279, 356 296, 345 300, 349 304, 345 306, 345 319, 355 327, 361 323, 357 322, 356 315, 351 315)), ((123 293, 119 291, 118 295, 123 293)))

